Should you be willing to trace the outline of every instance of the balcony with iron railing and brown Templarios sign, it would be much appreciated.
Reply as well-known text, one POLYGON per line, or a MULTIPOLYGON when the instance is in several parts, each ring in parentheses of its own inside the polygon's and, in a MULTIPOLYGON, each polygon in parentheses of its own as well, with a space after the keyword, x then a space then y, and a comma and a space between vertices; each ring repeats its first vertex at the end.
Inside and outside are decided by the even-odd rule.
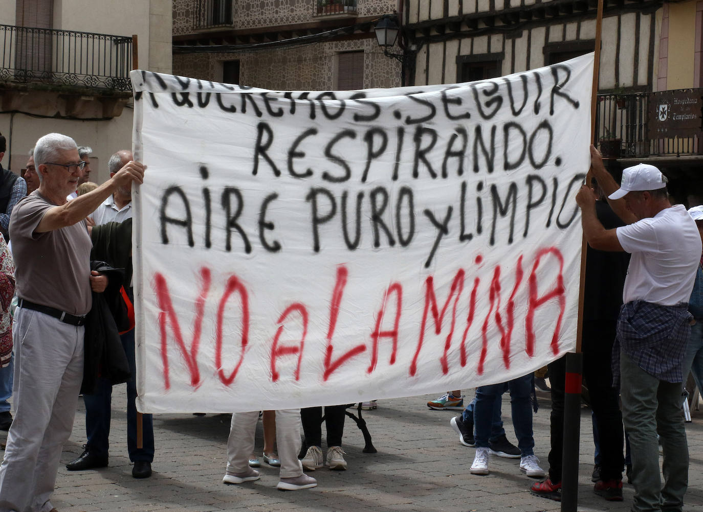
POLYGON ((595 144, 611 159, 702 155, 702 97, 703 88, 599 94, 595 144))

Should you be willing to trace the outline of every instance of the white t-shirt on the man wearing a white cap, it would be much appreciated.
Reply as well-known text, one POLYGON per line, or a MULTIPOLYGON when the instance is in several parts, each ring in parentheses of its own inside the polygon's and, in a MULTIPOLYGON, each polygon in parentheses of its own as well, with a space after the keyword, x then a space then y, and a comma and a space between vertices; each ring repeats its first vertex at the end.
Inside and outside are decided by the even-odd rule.
POLYGON ((688 302, 701 259, 701 237, 681 204, 617 228, 616 234, 622 248, 632 254, 622 291, 624 303, 688 302))

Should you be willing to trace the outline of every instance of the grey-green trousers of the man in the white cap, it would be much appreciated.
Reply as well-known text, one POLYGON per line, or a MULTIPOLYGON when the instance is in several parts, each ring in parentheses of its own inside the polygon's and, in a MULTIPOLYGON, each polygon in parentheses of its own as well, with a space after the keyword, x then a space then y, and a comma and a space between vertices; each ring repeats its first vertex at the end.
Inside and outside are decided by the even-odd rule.
POLYGON ((681 383, 660 381, 621 351, 622 419, 632 446, 635 512, 680 512, 688 488, 688 444, 683 425, 681 383), (664 487, 659 443, 664 452, 664 487))

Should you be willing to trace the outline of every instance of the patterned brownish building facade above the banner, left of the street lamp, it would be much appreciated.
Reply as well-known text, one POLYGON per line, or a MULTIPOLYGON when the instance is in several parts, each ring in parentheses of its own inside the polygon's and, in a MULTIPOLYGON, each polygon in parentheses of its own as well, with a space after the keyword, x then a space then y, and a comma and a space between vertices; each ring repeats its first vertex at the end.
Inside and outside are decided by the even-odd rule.
POLYGON ((231 22, 196 28, 198 8, 207 6, 207 1, 174 0, 176 47, 231 45, 216 53, 188 53, 188 48, 174 52, 174 74, 226 81, 226 66, 236 63, 242 85, 278 90, 335 90, 340 88, 340 54, 358 52, 363 53, 358 88, 399 86, 400 64, 383 55, 373 32, 373 22, 395 11, 396 1, 345 0, 342 3, 349 11, 333 15, 320 12, 322 1, 232 1, 231 22), (270 44, 340 27, 348 27, 349 32, 307 46, 281 44, 270 49, 252 48, 256 42, 270 44), (238 51, 238 47, 245 49, 238 51))

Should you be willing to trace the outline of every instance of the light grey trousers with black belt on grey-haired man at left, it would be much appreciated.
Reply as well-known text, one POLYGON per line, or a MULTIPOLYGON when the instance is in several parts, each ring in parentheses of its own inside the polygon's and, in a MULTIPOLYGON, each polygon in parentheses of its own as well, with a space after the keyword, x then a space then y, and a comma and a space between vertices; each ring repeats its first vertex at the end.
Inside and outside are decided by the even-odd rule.
POLYGON ((15 418, 0 466, 0 512, 49 512, 83 379, 85 327, 15 311, 15 418))

